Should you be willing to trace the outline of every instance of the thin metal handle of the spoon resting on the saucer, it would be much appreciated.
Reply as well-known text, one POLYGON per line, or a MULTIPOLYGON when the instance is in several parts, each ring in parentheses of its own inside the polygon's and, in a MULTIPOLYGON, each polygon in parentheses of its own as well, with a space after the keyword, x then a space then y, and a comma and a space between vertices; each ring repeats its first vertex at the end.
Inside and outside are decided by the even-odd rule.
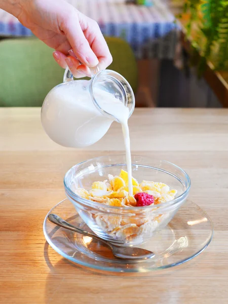
POLYGON ((84 236, 87 236, 87 237, 91 237, 93 239, 96 239, 98 241, 101 241, 105 244, 107 244, 109 247, 111 247, 111 244, 106 242, 105 240, 101 239, 100 237, 96 236, 95 234, 92 234, 88 231, 84 231, 78 227, 75 227, 73 225, 71 225, 70 223, 68 223, 67 221, 65 221, 64 219, 62 219, 60 216, 58 216, 57 214, 54 214, 54 213, 50 213, 48 215, 48 219, 53 222, 54 224, 60 226, 60 227, 63 227, 65 229, 68 229, 68 230, 71 230, 71 231, 74 231, 74 232, 77 232, 77 233, 80 233, 80 234, 83 234, 84 236))

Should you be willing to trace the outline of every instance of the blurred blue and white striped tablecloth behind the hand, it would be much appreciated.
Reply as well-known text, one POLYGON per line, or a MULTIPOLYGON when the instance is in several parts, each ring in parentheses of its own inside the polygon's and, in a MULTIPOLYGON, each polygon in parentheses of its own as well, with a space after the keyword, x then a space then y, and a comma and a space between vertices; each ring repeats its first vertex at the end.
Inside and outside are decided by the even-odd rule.
MULTIPOLYGON (((66 0, 96 20, 106 36, 122 37, 137 59, 172 59, 178 26, 161 0, 151 7, 126 5, 123 0, 66 0)), ((31 31, 14 16, 0 10, 0 35, 30 36, 31 31)))

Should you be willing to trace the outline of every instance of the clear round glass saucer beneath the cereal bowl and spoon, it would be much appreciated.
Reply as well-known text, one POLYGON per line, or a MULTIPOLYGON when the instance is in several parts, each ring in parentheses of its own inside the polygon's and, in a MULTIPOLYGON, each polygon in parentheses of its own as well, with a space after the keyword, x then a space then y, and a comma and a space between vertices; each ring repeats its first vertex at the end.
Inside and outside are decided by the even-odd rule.
MULTIPOLYGON (((91 231, 68 199, 58 203, 49 213, 58 214, 71 224, 91 231)), ((44 235, 53 249, 74 263, 111 272, 145 273, 173 267, 201 253, 213 234, 213 224, 207 213, 187 200, 163 230, 137 246, 153 251, 155 257, 128 263, 113 257, 102 242, 56 226, 48 220, 48 214, 44 221, 44 235)))

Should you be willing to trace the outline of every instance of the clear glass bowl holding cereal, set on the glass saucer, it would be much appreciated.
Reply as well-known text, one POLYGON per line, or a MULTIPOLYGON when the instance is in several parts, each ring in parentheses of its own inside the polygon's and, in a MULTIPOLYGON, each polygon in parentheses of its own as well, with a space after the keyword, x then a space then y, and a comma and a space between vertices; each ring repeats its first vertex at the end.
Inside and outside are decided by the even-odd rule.
POLYGON ((163 182, 176 189, 172 201, 146 207, 115 207, 84 199, 75 190, 91 189, 94 181, 108 179, 108 174, 119 175, 127 171, 125 156, 104 156, 73 166, 64 177, 67 198, 90 227, 104 240, 120 246, 138 245, 146 242, 163 229, 185 203, 191 180, 186 172, 167 161, 155 162, 144 156, 132 156, 132 175, 138 182, 150 180, 163 182))

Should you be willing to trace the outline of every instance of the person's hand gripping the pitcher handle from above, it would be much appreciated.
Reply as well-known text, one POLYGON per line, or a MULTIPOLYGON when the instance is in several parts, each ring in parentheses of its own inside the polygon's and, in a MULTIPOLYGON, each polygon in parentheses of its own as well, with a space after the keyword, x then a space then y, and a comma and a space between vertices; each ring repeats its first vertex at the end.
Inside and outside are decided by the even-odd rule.
POLYGON ((19 21, 46 45, 76 78, 91 76, 89 67, 105 69, 112 57, 96 21, 64 0, 19 0, 19 21), (80 64, 80 61, 82 64, 80 64))

